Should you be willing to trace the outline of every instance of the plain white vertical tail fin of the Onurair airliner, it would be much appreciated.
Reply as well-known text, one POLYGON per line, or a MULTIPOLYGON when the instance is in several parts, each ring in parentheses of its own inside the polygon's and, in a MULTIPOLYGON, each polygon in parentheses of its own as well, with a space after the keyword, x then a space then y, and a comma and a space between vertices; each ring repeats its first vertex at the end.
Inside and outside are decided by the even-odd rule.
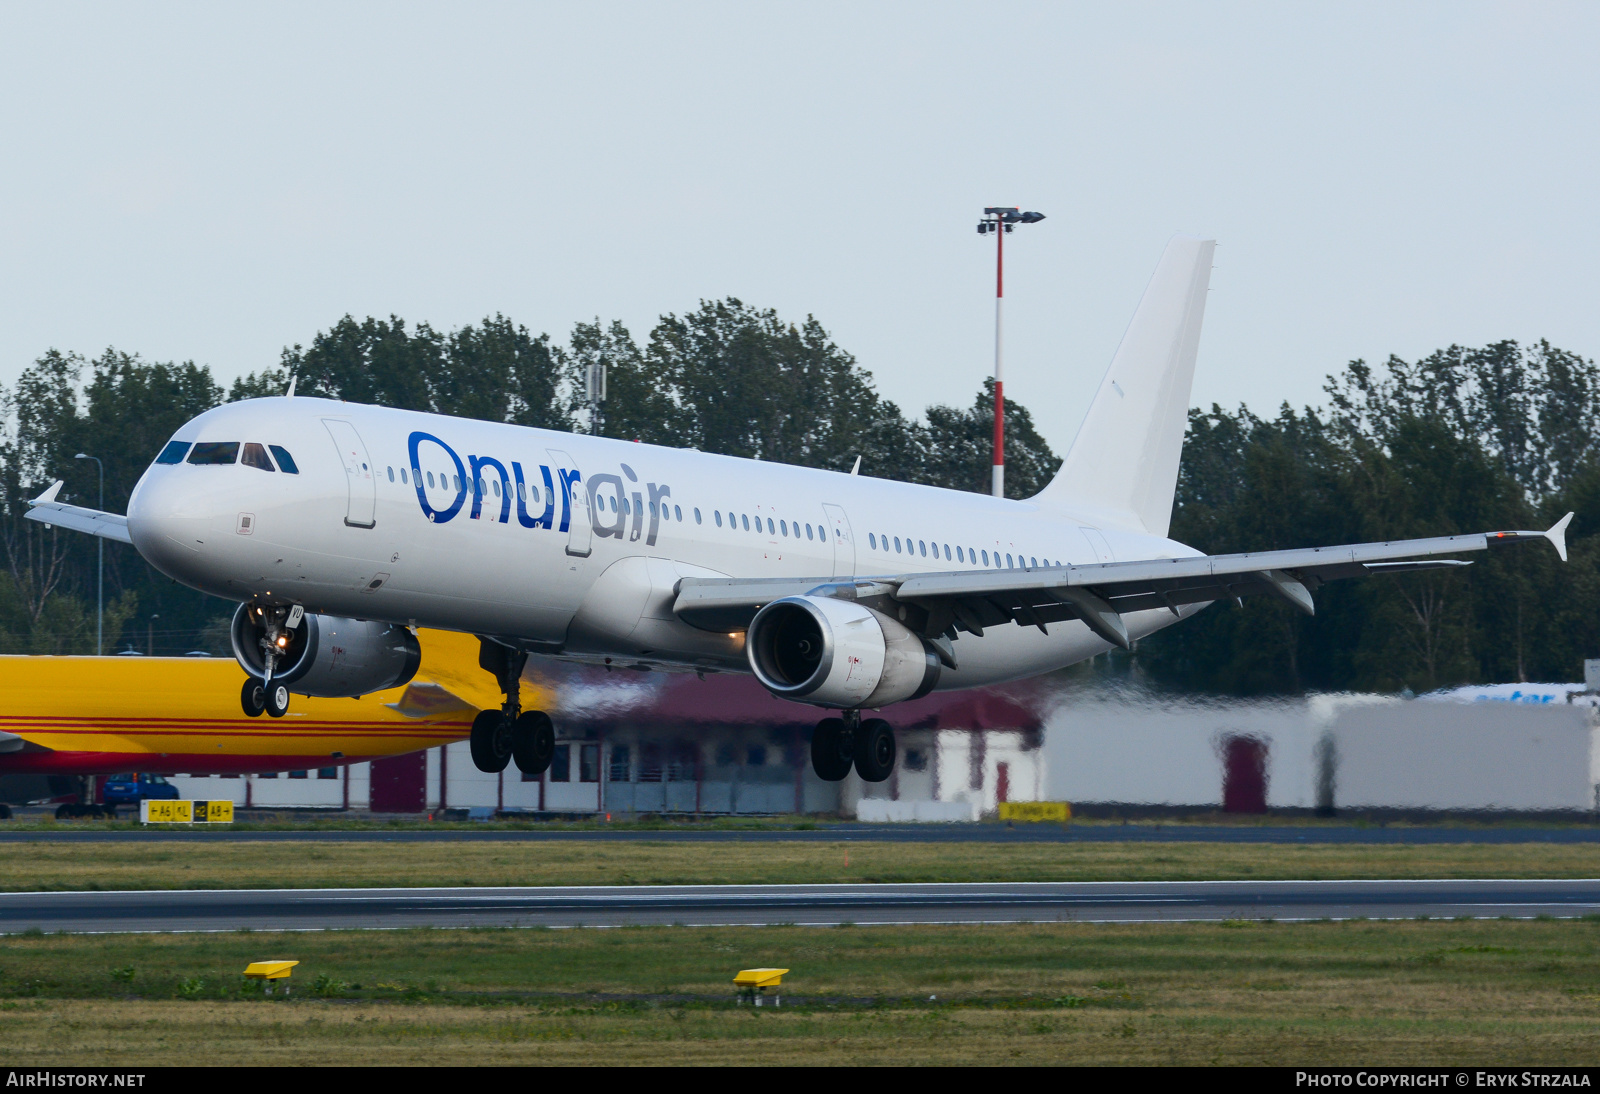
POLYGON ((1034 501, 1165 536, 1216 240, 1174 235, 1061 470, 1034 501))

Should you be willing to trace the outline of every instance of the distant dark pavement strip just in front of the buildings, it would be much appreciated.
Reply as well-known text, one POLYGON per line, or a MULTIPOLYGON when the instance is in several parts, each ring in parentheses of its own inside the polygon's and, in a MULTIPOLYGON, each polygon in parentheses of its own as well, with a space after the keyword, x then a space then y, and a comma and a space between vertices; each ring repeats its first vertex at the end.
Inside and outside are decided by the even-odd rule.
POLYGON ((819 824, 814 828, 429 828, 426 820, 403 828, 120 828, 94 830, 93 820, 51 832, 6 832, 0 843, 272 843, 326 840, 331 843, 432 843, 472 840, 520 843, 541 840, 664 841, 664 843, 1600 843, 1600 827, 1470 827, 1470 825, 1186 825, 1186 824, 819 824))

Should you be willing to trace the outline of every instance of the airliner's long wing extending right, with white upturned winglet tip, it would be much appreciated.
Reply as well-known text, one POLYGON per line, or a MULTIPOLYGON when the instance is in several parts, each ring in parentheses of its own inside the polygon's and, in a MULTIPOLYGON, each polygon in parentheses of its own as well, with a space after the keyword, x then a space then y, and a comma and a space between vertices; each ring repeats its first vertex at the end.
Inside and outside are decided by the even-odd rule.
POLYGON ((1301 611, 1315 611, 1310 590, 1341 577, 1392 574, 1413 569, 1469 566, 1461 555, 1523 539, 1547 539, 1566 561, 1566 513, 1547 531, 1496 531, 1382 544, 1304 547, 1296 550, 1149 558, 1090 566, 976 569, 936 574, 893 574, 856 581, 685 577, 674 613, 704 630, 742 630, 762 606, 782 597, 822 595, 858 600, 875 608, 910 608, 902 619, 926 638, 955 638, 965 630, 1016 622, 1038 627, 1082 619, 1096 635, 1130 646, 1122 617, 1130 611, 1269 593, 1301 611))

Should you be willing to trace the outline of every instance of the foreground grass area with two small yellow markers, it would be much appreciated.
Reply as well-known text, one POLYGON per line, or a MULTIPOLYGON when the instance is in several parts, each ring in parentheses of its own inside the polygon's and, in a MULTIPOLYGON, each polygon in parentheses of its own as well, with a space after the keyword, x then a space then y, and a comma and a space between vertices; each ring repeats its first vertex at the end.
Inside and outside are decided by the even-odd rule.
POLYGON ((13 936, 0 1064, 1589 1064, 1597 974, 1594 920, 13 936))

